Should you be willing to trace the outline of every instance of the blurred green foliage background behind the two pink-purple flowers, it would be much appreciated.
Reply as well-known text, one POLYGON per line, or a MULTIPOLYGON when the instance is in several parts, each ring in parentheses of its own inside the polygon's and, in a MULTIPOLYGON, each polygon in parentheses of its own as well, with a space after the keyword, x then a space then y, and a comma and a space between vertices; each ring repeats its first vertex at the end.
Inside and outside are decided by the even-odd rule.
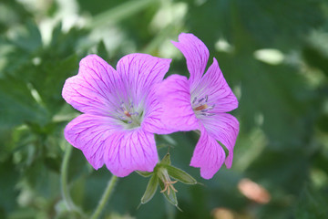
MULTIPOLYGON (((204 185, 176 184, 183 212, 159 191, 137 209, 148 182, 132 173, 104 218, 328 218, 324 0, 0 0, 0 218, 80 217, 61 196, 63 129, 78 115, 61 97, 66 78, 87 54, 115 67, 132 52, 173 58, 169 74, 187 76, 170 43, 181 32, 209 47, 240 101, 232 168, 203 180, 189 166, 196 133, 158 136, 204 185)), ((76 149, 68 164, 73 201, 90 214, 111 174, 76 149)))

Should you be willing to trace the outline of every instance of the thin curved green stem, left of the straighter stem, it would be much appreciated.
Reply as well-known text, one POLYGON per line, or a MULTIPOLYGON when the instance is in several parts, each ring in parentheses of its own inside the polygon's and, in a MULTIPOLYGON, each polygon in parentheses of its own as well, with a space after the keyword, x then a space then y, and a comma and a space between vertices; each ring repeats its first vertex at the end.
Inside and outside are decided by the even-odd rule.
POLYGON ((69 161, 70 154, 72 152, 72 148, 73 148, 72 146, 67 144, 63 163, 61 166, 61 176, 60 176, 62 196, 63 196, 64 202, 67 204, 67 209, 69 211, 73 211, 76 208, 75 204, 72 202, 72 199, 69 195, 68 186, 67 186, 68 161, 69 161))

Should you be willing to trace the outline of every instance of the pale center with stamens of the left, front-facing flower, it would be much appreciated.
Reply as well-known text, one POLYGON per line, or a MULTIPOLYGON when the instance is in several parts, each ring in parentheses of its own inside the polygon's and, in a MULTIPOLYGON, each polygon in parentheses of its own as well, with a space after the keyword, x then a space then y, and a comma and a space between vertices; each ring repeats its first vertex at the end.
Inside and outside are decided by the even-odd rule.
POLYGON ((121 102, 120 107, 116 110, 118 113, 118 120, 123 122, 128 129, 139 127, 141 124, 143 111, 135 109, 133 103, 125 104, 124 102, 121 102), (140 111, 140 113, 138 111, 140 111))

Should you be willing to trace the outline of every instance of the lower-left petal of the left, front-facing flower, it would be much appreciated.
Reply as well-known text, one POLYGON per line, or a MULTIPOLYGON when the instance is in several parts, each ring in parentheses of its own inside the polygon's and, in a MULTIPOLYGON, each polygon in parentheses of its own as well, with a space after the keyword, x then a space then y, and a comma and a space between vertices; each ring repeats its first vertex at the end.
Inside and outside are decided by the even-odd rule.
POLYGON ((120 129, 109 117, 82 114, 67 124, 64 133, 67 141, 83 151, 87 161, 97 170, 104 165, 106 140, 113 131, 120 129))

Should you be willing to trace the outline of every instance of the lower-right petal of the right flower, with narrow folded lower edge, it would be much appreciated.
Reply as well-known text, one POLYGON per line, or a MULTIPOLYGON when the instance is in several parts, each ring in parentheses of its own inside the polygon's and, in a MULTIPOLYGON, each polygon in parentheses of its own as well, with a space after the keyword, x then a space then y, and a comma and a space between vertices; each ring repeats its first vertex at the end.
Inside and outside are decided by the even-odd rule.
POLYGON ((239 132, 239 122, 228 113, 218 113, 216 115, 202 117, 204 125, 209 136, 217 141, 220 141, 229 151, 225 164, 227 168, 231 168, 233 159, 233 147, 237 140, 239 132))

